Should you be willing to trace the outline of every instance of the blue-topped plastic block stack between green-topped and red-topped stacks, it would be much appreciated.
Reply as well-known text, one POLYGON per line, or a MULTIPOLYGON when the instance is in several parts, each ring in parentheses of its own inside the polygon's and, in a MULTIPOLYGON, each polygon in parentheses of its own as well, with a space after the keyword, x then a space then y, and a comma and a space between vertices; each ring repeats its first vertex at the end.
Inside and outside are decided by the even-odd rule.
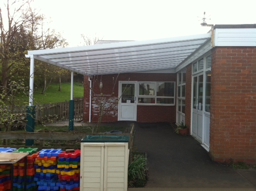
POLYGON ((57 160, 62 149, 42 149, 39 151, 35 161, 36 174, 34 180, 38 185, 38 191, 56 191, 59 187, 56 186, 58 176, 57 160))

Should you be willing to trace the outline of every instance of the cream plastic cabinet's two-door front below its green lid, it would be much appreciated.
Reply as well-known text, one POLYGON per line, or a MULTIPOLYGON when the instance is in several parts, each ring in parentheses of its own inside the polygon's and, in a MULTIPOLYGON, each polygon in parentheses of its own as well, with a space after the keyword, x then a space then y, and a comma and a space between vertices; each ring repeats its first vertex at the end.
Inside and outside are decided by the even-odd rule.
POLYGON ((128 160, 128 142, 82 142, 80 191, 127 191, 128 160))

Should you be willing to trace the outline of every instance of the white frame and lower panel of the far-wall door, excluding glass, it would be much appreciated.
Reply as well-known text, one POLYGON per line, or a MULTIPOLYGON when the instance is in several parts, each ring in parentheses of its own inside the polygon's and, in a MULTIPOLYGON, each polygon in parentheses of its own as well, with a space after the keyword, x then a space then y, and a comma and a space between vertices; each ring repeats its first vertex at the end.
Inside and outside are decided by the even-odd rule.
POLYGON ((137 82, 119 81, 118 84, 118 121, 136 121, 137 120, 137 82), (130 98, 126 102, 122 101, 122 84, 134 84, 134 100, 130 98), (133 113, 132 113, 133 112, 133 113), (127 117, 126 117, 127 116, 127 117))

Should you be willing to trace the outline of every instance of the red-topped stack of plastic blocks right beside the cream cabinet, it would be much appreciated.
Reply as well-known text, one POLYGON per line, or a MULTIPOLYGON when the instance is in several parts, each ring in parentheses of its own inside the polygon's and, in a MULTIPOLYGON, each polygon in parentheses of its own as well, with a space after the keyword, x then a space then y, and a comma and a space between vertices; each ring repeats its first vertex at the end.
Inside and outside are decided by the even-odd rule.
POLYGON ((80 190, 80 150, 68 149, 59 154, 58 158, 58 182, 60 191, 80 190))

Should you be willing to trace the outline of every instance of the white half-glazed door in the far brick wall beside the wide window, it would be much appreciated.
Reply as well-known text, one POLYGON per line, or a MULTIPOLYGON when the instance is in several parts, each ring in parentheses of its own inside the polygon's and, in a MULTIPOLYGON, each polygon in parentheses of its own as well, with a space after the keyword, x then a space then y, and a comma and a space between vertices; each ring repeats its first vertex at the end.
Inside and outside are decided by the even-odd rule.
POLYGON ((119 82, 118 120, 136 121, 136 82, 119 82))

